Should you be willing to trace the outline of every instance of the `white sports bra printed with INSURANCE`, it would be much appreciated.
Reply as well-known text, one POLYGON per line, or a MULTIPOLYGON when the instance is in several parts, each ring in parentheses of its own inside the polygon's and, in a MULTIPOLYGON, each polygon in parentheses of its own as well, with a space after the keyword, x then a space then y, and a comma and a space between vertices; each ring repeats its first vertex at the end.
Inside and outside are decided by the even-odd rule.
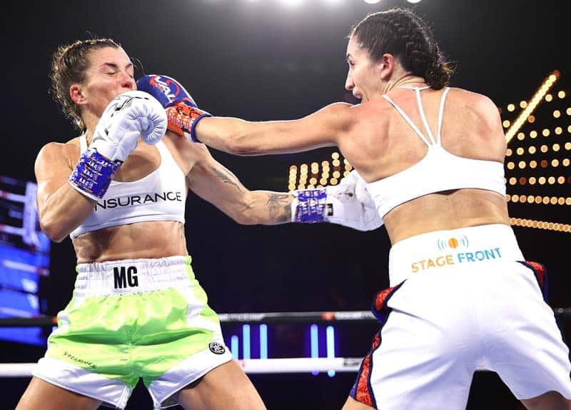
MULTIPOLYGON (((85 135, 81 135, 79 141, 83 153, 87 149, 85 135)), ((69 234, 71 239, 98 229, 143 221, 184 224, 185 176, 163 141, 158 141, 156 148, 161 155, 161 165, 137 181, 111 181, 94 211, 69 234)))

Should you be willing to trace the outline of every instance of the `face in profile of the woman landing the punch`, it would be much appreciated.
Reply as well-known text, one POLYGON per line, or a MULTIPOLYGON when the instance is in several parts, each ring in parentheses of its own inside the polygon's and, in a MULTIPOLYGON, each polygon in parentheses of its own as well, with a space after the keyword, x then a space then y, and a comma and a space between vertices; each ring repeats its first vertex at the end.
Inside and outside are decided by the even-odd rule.
POLYGON ((345 89, 353 91, 353 96, 363 102, 380 96, 381 70, 383 61, 375 63, 369 57, 366 49, 360 46, 358 39, 352 36, 347 44, 347 63, 349 71, 345 81, 345 89))

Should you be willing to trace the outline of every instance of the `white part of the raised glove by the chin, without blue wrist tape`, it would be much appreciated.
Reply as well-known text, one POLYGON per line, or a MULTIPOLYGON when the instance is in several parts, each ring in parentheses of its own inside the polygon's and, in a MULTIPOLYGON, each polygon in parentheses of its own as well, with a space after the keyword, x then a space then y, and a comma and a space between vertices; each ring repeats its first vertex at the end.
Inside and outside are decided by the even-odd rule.
POLYGON ((166 112, 155 97, 144 91, 116 96, 103 111, 89 148, 116 164, 136 149, 138 138, 147 144, 161 141, 166 132, 166 112))

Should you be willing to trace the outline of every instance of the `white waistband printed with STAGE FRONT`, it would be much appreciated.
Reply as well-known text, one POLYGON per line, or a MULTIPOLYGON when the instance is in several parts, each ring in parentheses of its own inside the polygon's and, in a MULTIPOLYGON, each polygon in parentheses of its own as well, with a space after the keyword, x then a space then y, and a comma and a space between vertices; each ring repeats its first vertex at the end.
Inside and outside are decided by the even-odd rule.
POLYGON ((415 274, 494 261, 523 261, 511 226, 470 226, 433 231, 397 242, 390 249, 390 286, 415 274))

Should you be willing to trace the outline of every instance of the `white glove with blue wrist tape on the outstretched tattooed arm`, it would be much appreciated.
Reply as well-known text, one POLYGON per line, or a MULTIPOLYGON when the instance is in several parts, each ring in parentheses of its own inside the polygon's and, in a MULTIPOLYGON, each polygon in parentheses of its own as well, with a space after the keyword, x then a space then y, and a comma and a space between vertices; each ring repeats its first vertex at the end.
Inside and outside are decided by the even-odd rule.
POLYGON ((329 222, 358 231, 371 231, 383 225, 365 180, 355 170, 338 185, 293 191, 293 194, 293 222, 329 222))

